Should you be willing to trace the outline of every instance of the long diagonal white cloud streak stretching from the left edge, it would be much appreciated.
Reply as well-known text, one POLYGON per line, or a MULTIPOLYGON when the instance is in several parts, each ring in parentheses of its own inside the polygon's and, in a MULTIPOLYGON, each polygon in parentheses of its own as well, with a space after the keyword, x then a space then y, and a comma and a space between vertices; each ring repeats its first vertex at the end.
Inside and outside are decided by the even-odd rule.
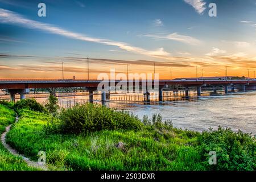
POLYGON ((22 15, 16 14, 13 11, 5 10, 5 9, 0 9, 0 22, 8 23, 8 24, 17 24, 18 26, 36 29, 36 30, 48 32, 51 34, 61 35, 61 36, 65 36, 70 39, 77 39, 77 40, 86 41, 86 42, 100 43, 100 44, 105 44, 108 46, 116 46, 120 49, 129 51, 129 52, 139 53, 139 54, 143 54, 143 55, 147 55, 147 56, 158 57, 158 56, 166 56, 167 55, 167 52, 163 51, 162 48, 154 50, 154 51, 148 51, 143 48, 130 46, 129 44, 123 43, 123 42, 116 42, 116 41, 109 40, 109 39, 92 38, 90 36, 86 36, 84 34, 79 34, 76 32, 68 31, 68 30, 65 30, 64 28, 59 28, 59 27, 53 26, 51 24, 27 19, 27 18, 24 18, 22 15))

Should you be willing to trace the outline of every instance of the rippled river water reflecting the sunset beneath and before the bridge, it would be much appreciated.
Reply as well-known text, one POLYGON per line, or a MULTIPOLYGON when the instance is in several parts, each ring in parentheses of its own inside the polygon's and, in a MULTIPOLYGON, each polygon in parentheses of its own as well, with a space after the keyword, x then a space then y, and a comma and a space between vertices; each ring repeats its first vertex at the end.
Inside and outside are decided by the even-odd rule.
MULTIPOLYGON (((100 95, 94 96, 100 102, 100 95)), ((209 127, 217 129, 218 126, 230 127, 234 131, 242 130, 245 133, 256 134, 256 92, 235 92, 230 94, 210 95, 201 97, 191 93, 189 98, 182 96, 164 95, 164 102, 156 101, 156 96, 151 96, 151 102, 143 102, 143 94, 111 95, 106 106, 118 110, 127 110, 139 118, 143 115, 151 117, 152 114, 161 114, 163 119, 171 119, 175 127, 182 129, 204 131, 209 127), (127 101, 129 100, 129 101, 127 101)), ((36 98, 39 102, 46 98, 36 98)), ((59 97, 59 104, 69 107, 76 102, 84 103, 88 96, 59 97)))

